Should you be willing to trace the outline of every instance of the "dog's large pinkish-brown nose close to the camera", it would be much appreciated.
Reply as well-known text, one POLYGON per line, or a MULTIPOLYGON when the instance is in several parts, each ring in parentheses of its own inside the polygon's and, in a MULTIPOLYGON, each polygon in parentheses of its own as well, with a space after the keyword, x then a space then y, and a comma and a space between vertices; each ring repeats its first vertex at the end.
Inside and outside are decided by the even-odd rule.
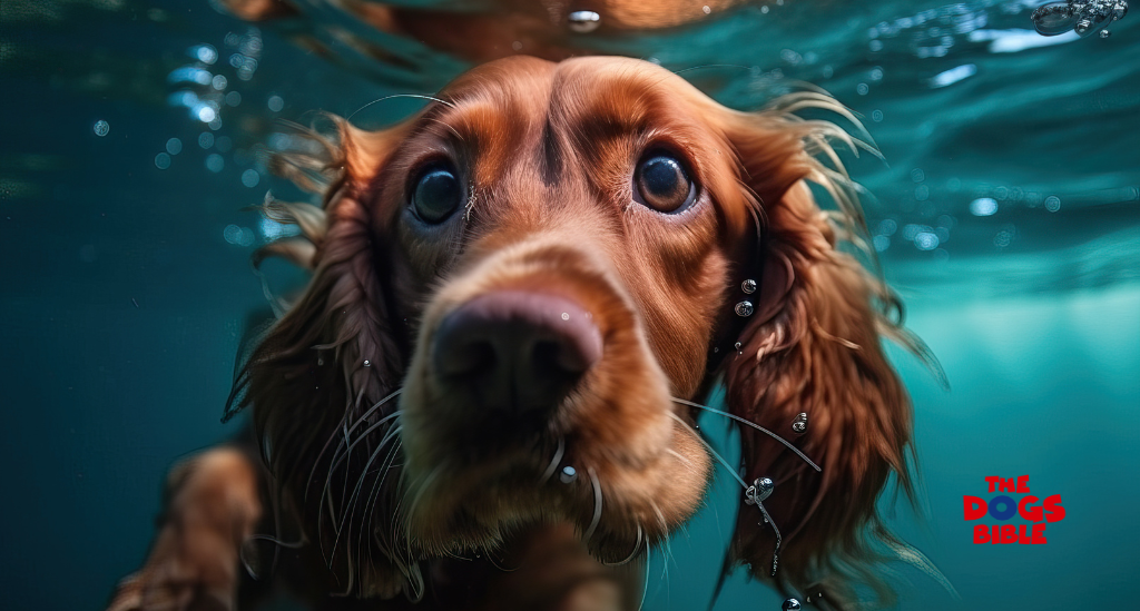
POLYGON ((591 315, 561 296, 494 291, 448 313, 433 344, 440 381, 478 407, 546 421, 602 357, 591 315))

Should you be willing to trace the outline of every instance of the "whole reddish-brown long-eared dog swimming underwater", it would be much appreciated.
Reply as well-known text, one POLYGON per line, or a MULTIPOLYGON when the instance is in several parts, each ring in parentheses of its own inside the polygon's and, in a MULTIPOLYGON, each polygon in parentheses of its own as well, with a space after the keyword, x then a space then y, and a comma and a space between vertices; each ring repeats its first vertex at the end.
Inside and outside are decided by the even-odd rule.
POLYGON ((311 132, 277 169, 321 205, 263 207, 300 235, 258 258, 311 280, 237 376, 249 439, 174 469, 109 609, 231 609, 243 564, 323 608, 637 609, 646 551, 719 466, 726 571, 822 609, 889 597, 876 502, 891 474, 913 489, 912 410, 880 341, 922 350, 854 254, 830 142, 864 145, 805 108, 855 121, 817 92, 738 112, 646 62, 512 57, 388 129, 311 132), (740 423, 742 465, 701 410, 740 423))

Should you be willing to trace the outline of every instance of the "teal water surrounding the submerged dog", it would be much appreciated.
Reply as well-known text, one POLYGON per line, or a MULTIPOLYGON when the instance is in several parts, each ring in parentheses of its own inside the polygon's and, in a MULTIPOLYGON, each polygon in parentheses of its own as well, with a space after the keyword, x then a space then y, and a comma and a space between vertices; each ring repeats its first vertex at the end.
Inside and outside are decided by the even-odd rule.
MULTIPOLYGON (((595 42, 693 68, 736 108, 814 83, 880 147, 844 161, 950 385, 891 351, 923 488, 922 515, 899 500, 890 526, 956 590, 896 562, 899 609, 1137 609, 1140 16, 1045 38, 1041 3, 757 1, 595 42), (962 497, 995 496, 991 475, 1060 495, 1047 545, 972 543, 962 497)), ((287 189, 266 170, 277 120, 386 124, 420 103, 369 103, 467 65, 311 6, 332 54, 207 0, 0 0, 0 608, 101 609, 144 559, 165 471, 236 432, 235 355, 269 310, 250 254, 285 230, 245 210, 287 189)), ((733 462, 725 423, 702 429, 733 462)), ((739 494, 718 473, 654 552, 645 609, 708 609, 739 494)), ((736 573, 715 609, 782 600, 736 573)))

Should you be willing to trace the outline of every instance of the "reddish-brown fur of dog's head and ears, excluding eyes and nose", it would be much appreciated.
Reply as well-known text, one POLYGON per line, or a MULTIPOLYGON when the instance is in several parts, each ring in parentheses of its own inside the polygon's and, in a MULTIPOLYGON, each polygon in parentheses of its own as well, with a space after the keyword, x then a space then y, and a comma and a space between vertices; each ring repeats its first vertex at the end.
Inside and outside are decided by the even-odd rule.
MULTIPOLYGON (((578 592, 506 579, 496 583, 514 586, 470 608, 523 592, 561 593, 542 609, 597 596, 606 602, 577 608, 636 608, 636 571, 597 561, 643 559, 645 545, 699 508, 714 463, 694 414, 670 397, 702 401, 719 382, 730 412, 822 466, 742 429, 744 479, 776 482, 765 502, 783 533, 776 586, 825 592, 822 604, 841 608, 863 581, 889 602, 873 541, 894 539, 876 502, 891 473, 911 489, 911 410, 880 337, 918 344, 888 316, 887 287, 838 247, 857 250, 865 228, 829 141, 860 142, 797 119, 806 107, 846 114, 819 93, 731 111, 632 59, 512 58, 461 76, 392 128, 339 121, 335 144, 314 135, 323 154, 279 157, 279 170, 323 203, 267 202, 269 217, 296 222, 302 236, 262 254, 306 264, 312 280, 250 357, 239 405, 252 406, 282 523, 307 541, 310 589, 417 597, 470 580, 462 563, 433 577, 433 559, 536 557, 535 541, 553 537, 602 581, 578 592), (699 185, 698 203, 676 215, 633 202, 633 169, 657 148, 681 157, 699 185), (461 170, 471 196, 462 219, 425 229, 408 212, 409 177, 439 158, 461 170), (838 210, 821 211, 807 181, 838 210), (741 325, 732 306, 746 277, 762 288, 741 325), (603 360, 552 424, 563 462, 581 474, 570 484, 536 476, 555 453, 548 440, 465 454, 465 431, 451 424, 465 404, 434 382, 424 348, 465 300, 519 287, 571 296, 604 339, 603 360), (801 412, 809 429, 797 437, 801 412)), ((742 498, 730 552, 771 579, 775 540, 759 522, 742 498)), ((421 608, 433 604, 427 596, 421 608)))

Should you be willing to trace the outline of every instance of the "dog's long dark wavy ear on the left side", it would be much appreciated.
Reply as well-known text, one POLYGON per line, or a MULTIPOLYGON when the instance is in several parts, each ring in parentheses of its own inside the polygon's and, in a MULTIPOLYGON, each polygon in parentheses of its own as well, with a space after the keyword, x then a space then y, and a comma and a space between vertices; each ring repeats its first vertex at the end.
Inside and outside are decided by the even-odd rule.
POLYGON ((316 206, 268 198, 262 212, 295 223, 300 236, 264 246, 254 261, 283 256, 310 269, 312 277, 245 359, 227 417, 251 407, 262 456, 278 488, 279 511, 321 547, 339 584, 390 596, 401 579, 381 575, 383 568, 372 571, 375 575, 360 571, 359 551, 339 543, 357 544, 351 529, 364 526, 352 516, 361 520, 366 513, 350 514, 345 505, 352 499, 340 492, 348 478, 353 478, 348 488, 352 490, 360 476, 356 470, 384 438, 386 430, 370 425, 396 409, 396 401, 380 404, 402 377, 405 356, 388 311, 384 249, 377 247, 384 237, 375 235, 377 225, 366 202, 407 123, 365 132, 334 121, 337 141, 302 128, 304 145, 274 158, 277 173, 323 201, 316 206), (368 434, 373 437, 366 439, 368 434), (316 531, 310 531, 312 526, 316 531))

